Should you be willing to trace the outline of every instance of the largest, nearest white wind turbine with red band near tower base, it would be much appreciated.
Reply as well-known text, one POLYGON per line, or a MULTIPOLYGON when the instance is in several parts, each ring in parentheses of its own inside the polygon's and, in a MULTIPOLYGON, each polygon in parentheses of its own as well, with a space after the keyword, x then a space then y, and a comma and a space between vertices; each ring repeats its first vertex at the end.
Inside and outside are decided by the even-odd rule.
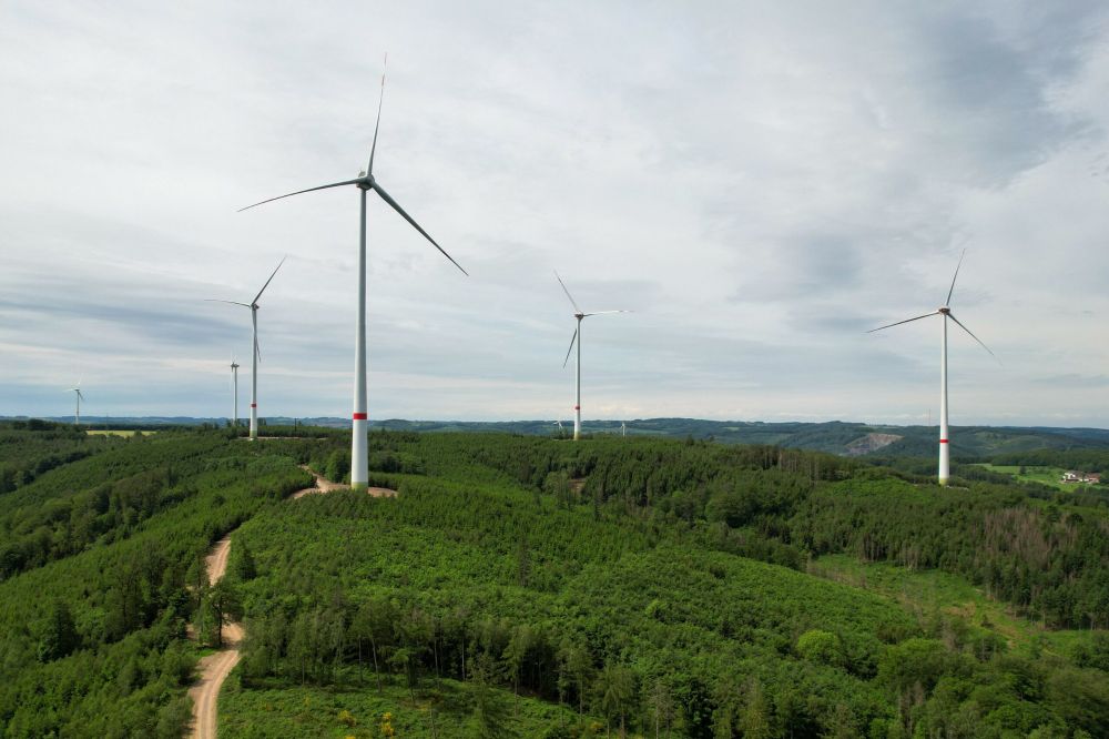
POLYGON ((278 195, 277 198, 269 198, 268 200, 263 200, 253 205, 247 205, 246 207, 240 209, 240 212, 255 207, 256 205, 262 205, 264 203, 269 203, 275 200, 281 200, 282 198, 292 198, 293 195, 299 195, 306 192, 314 192, 316 190, 327 190, 329 188, 343 188, 346 185, 355 185, 358 188, 359 195, 362 199, 362 216, 360 216, 360 230, 358 236, 358 322, 357 330, 355 331, 355 343, 354 343, 354 412, 352 413, 352 439, 350 439, 350 487, 355 489, 365 489, 369 486, 369 455, 368 455, 368 444, 369 438, 367 436, 369 431, 369 425, 366 415, 366 193, 370 190, 376 192, 381 200, 384 200, 389 207, 395 210, 400 216, 408 221, 408 223, 416 229, 425 239, 431 242, 439 252, 450 260, 450 263, 458 267, 462 274, 467 274, 466 270, 462 270, 461 265, 456 262, 450 254, 444 251, 442 246, 431 239, 431 236, 420 227, 418 223, 408 213, 405 212, 397 201, 389 196, 389 193, 385 192, 381 184, 374 178, 374 153, 377 151, 377 131, 381 125, 381 103, 385 101, 385 73, 381 73, 381 97, 377 103, 377 123, 374 124, 374 143, 369 148, 369 163, 366 165, 364 172, 359 172, 358 176, 354 180, 344 180, 343 182, 333 182, 332 184, 318 185, 316 188, 308 188, 307 190, 298 190, 296 192, 291 192, 285 195, 278 195))

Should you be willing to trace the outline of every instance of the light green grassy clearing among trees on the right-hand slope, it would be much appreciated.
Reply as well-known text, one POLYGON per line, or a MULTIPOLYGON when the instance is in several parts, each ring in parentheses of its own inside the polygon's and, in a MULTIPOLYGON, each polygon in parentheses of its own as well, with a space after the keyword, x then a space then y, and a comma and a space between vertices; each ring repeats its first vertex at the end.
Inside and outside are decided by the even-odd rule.
POLYGON ((1069 657, 1077 645, 1093 635, 1088 630, 1047 629, 1015 615, 962 577, 938 570, 909 570, 886 563, 859 563, 852 555, 828 555, 810 563, 808 573, 896 600, 920 622, 936 615, 957 616, 971 629, 1000 636, 1020 654, 1044 650, 1069 657))

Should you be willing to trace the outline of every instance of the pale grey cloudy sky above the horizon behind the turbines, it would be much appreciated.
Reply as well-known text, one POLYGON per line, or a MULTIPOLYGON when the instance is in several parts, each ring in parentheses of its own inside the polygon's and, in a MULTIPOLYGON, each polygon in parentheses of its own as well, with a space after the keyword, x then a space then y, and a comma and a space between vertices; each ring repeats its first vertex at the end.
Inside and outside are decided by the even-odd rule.
POLYGON ((1109 426, 1102 2, 0 6, 0 415, 1109 426))

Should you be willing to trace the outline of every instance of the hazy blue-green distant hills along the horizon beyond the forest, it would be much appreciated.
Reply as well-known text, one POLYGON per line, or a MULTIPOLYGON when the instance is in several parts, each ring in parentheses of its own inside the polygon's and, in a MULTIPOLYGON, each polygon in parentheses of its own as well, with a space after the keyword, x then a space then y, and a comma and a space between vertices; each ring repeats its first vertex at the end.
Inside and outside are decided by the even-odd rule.
MULTIPOLYGON (((61 416, 49 421, 67 422, 61 416)), ((113 427, 195 426, 203 423, 224 425, 226 418, 191 418, 183 416, 144 416, 139 418, 82 417, 92 426, 113 427)), ((350 421, 336 417, 266 419, 267 426, 349 427, 350 421)), ((619 421, 588 421, 587 434, 620 434, 619 421)), ((642 418, 625 422, 629 436, 714 439, 724 444, 775 444, 800 449, 813 449, 843 456, 930 457, 936 453, 935 426, 891 426, 833 421, 826 423, 763 423, 747 421, 704 421, 700 418, 642 418)), ((372 421, 372 428, 408 432, 501 432, 552 436, 558 433, 553 421, 405 421, 390 418, 372 421)), ((572 432, 572 422, 563 422, 564 433, 572 432)), ((264 432, 263 432, 264 433, 264 432)), ((1034 449, 1105 449, 1109 448, 1109 429, 1056 428, 1049 426, 955 426, 952 428, 952 453, 957 458, 990 457, 998 454, 1034 449)))

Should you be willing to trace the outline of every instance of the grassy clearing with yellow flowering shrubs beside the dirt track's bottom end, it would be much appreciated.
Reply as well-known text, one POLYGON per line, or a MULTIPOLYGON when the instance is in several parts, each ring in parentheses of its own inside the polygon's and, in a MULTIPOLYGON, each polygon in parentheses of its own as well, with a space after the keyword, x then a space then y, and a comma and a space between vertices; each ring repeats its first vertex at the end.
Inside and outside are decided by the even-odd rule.
MULTIPOLYGON (((441 680, 435 694, 417 691, 416 702, 400 681, 386 681, 378 692, 373 676, 366 684, 352 679, 338 686, 316 687, 268 680, 243 689, 236 670, 224 684, 220 695, 220 736, 230 739, 263 739, 269 737, 439 737, 461 739, 472 737, 472 699, 467 686, 456 680, 441 680), (431 709, 435 713, 433 716, 431 709), (385 718, 386 713, 389 719, 385 718), (433 732, 431 722, 435 722, 433 732), (390 726, 394 733, 383 731, 390 726)), ((530 698, 517 699, 510 691, 495 690, 502 713, 503 736, 541 737, 551 727, 574 726, 578 715, 530 698)), ((587 717, 587 726, 596 722, 587 717)), ((581 736, 593 736, 583 731, 581 736)))

